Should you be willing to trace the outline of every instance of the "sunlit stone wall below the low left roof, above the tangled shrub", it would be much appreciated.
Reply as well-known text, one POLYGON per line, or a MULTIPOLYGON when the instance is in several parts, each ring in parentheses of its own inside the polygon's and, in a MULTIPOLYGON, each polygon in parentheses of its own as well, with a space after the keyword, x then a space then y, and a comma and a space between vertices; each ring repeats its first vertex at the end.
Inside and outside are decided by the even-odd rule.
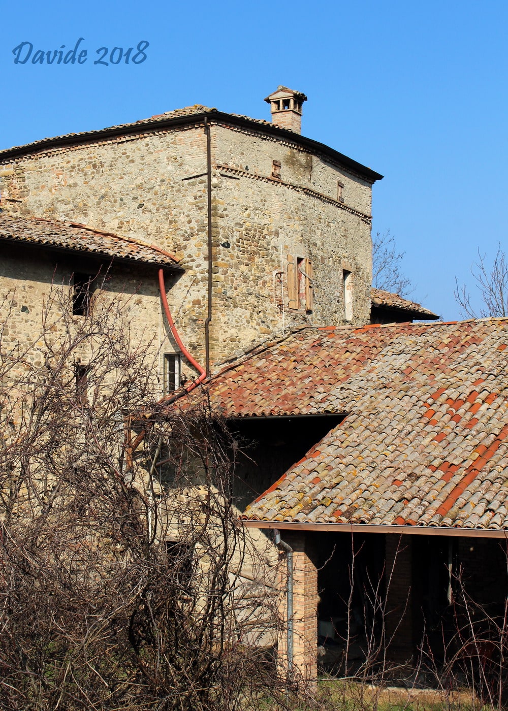
MULTIPOLYGON (((91 289, 92 316, 98 309, 120 308, 129 324, 131 346, 146 353, 147 367, 154 374, 154 393, 162 396, 162 358, 164 353, 174 353, 175 348, 160 319, 157 274, 140 265, 112 266, 108 270, 107 265, 100 267, 83 255, 69 257, 26 245, 9 245, 0 265, 2 353, 15 350, 28 365, 39 368, 47 351, 41 334, 61 339, 66 329, 72 331, 80 325, 86 317, 72 315, 74 272, 96 276, 91 289)), ((89 355, 83 343, 72 357, 79 356, 87 363, 89 355)), ((16 378, 16 373, 11 375, 16 378)))

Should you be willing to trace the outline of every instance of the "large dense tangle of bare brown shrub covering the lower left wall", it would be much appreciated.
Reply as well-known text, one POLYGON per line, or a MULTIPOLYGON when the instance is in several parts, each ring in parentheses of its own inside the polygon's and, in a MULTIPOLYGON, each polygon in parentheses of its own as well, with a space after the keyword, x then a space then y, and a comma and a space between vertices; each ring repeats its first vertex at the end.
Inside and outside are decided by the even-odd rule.
POLYGON ((76 318, 66 293, 31 343, 0 343, 1 707, 278 698, 260 640, 278 598, 236 524, 226 427, 201 397, 156 404, 154 344, 127 297, 76 318))

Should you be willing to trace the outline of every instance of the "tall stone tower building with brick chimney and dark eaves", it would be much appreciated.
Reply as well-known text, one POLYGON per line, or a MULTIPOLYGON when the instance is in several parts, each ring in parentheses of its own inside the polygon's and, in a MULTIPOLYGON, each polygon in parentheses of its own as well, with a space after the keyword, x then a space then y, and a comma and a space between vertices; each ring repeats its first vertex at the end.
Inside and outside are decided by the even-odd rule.
POLYGON ((195 105, 1 151, 1 208, 172 252, 169 306, 208 365, 289 326, 365 323, 382 176, 300 134, 306 98, 278 87, 272 122, 195 105))

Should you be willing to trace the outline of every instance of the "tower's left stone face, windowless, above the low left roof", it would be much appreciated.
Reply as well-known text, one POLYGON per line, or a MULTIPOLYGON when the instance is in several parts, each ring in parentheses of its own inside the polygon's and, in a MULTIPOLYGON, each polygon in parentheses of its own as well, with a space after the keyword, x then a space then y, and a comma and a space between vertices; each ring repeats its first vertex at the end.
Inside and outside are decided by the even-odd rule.
POLYGON ((185 256, 184 277, 177 284, 166 279, 168 301, 189 351, 201 355, 206 178, 182 178, 203 171, 202 127, 65 146, 0 168, 1 206, 15 215, 73 220, 185 256))

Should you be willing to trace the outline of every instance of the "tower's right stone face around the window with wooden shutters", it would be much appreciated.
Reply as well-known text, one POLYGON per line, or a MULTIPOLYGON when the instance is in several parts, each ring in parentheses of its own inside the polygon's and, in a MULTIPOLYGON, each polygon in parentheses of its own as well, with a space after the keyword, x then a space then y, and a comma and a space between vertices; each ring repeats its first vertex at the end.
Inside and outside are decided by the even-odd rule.
POLYGON ((216 299, 223 309, 228 304, 229 318, 252 338, 287 326, 337 324, 344 320, 344 268, 354 274, 354 322, 367 321, 371 236, 364 215, 370 215, 371 187, 296 144, 225 127, 213 131, 216 265, 223 282, 216 299), (280 179, 272 177, 272 161, 280 163, 280 179), (337 200, 339 181, 344 203, 337 200), (312 261, 312 313, 288 308, 287 255, 312 261))

